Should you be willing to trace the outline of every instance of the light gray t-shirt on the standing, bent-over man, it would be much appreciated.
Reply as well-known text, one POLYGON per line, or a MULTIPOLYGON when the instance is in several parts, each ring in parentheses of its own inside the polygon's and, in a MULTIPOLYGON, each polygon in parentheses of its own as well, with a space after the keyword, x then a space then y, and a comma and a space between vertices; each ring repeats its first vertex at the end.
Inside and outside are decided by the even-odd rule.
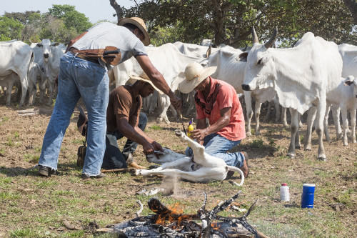
POLYGON ((109 22, 101 22, 92 26, 81 39, 73 44, 76 49, 104 49, 115 46, 121 51, 123 63, 131 56, 148 55, 144 44, 129 29, 109 22))

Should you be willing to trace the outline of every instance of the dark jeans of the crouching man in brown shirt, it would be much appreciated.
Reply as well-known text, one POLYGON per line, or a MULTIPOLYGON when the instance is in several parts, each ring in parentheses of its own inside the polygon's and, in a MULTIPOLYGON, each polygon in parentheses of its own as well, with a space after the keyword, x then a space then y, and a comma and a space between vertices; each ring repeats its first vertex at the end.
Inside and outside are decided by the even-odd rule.
MULTIPOLYGON (((147 122, 148 117, 146 114, 141 112, 138 124, 141 131, 144 132, 147 122)), ((135 152, 136 147, 138 147, 138 143, 128 139, 124 146, 123 152, 120 152, 117 141, 123 137, 124 135, 118 130, 115 132, 106 132, 106 152, 104 154, 103 164, 101 165, 103 169, 127 168, 126 159, 128 159, 129 154, 135 152)))

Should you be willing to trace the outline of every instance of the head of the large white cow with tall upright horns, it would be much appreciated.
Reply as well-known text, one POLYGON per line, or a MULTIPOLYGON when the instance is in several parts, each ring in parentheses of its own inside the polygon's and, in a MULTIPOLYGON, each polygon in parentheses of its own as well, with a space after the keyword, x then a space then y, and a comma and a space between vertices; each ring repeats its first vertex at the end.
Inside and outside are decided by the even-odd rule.
POLYGON ((242 88, 245 91, 253 91, 256 88, 266 88, 272 86, 272 80, 275 76, 275 65, 269 50, 273 46, 278 28, 274 29, 271 39, 266 44, 260 44, 254 26, 252 28, 253 47, 249 52, 243 52, 239 55, 241 61, 246 61, 244 70, 244 81, 242 88))

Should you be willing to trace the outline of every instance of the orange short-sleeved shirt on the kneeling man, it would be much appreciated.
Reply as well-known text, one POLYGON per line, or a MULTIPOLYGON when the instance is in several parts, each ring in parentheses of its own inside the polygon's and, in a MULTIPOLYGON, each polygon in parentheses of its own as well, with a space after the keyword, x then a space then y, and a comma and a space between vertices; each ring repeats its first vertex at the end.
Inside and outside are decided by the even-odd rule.
MULTIPOLYGON (((217 83, 222 86, 221 89, 219 89, 216 101, 213 104, 211 115, 206 114, 201 106, 196 103, 196 118, 208 118, 209 124, 212 125, 221 118, 221 109, 231 107, 231 119, 229 120, 229 124, 226 127, 223 127, 219 132, 217 132, 217 134, 231 141, 238 141, 246 138, 243 110, 238 99, 236 89, 234 89, 230 84, 227 84, 225 81, 212 79, 211 77, 209 77, 209 79, 211 81, 211 91, 209 92, 208 97, 213 93, 217 83)), ((201 91, 197 91, 197 96, 203 104, 207 104, 201 91)))

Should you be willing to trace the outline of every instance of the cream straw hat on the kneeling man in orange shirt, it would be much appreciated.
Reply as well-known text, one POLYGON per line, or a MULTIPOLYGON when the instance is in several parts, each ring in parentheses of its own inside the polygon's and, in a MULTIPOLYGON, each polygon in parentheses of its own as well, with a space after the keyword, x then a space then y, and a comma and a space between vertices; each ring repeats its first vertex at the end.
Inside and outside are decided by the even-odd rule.
POLYGON ((211 66, 207 68, 203 68, 201 64, 197 62, 193 62, 188 64, 185 69, 185 78, 180 84, 178 84, 178 90, 180 90, 183 94, 190 93, 198 84, 201 83, 208 76, 211 76, 217 67, 211 66))

